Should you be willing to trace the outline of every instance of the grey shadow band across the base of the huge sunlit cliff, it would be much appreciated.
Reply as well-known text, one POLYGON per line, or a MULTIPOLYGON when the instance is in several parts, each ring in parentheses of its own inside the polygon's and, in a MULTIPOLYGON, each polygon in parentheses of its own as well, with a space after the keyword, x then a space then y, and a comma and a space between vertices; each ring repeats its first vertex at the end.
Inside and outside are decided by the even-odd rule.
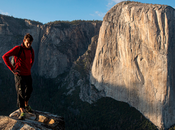
MULTIPOLYGON (((128 104, 130 104, 131 106, 145 106, 145 109, 149 109, 151 107, 153 107, 151 104, 151 100, 148 103, 147 99, 143 96, 139 96, 139 91, 137 90, 137 88, 127 88, 125 85, 114 85, 114 84, 110 84, 110 83, 102 83, 102 82, 98 82, 94 77, 93 80, 95 80, 95 84, 98 83, 100 84, 100 86, 102 86, 100 89, 97 88, 95 86, 95 84, 91 84, 93 86, 96 87, 96 89, 98 90, 98 92, 103 93, 104 97, 111 97, 114 98, 118 101, 122 101, 122 102, 127 102, 128 104), (116 93, 115 93, 116 92, 116 93), (131 97, 132 95, 132 97, 131 97), (129 101, 130 100, 130 101, 129 101)), ((141 87, 142 84, 139 82, 133 82, 130 84, 130 86, 139 86, 141 87)), ((158 103, 157 103, 158 104, 158 103)), ((154 103, 155 105, 155 103, 154 103)), ((138 108, 136 108, 138 109, 138 108)), ((150 110, 151 112, 151 110, 150 110)), ((154 114, 154 112, 152 111, 151 114, 154 114)))

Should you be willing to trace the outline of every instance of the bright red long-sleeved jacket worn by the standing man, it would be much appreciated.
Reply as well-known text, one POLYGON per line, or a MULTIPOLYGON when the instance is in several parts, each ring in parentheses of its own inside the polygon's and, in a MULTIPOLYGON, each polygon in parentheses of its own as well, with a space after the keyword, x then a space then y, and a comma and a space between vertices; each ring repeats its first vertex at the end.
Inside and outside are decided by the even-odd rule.
POLYGON ((23 76, 31 75, 31 67, 34 62, 34 50, 32 51, 33 54, 31 54, 31 50, 27 49, 23 43, 21 44, 23 47, 23 51, 21 52, 18 61, 17 60, 17 55, 20 50, 20 46, 15 46, 12 48, 10 51, 6 52, 2 58, 7 65, 7 67, 12 71, 13 69, 19 70, 19 74, 23 76), (25 54, 24 54, 25 53, 25 54), (14 56, 14 61, 15 61, 15 68, 12 66, 9 57, 14 56))

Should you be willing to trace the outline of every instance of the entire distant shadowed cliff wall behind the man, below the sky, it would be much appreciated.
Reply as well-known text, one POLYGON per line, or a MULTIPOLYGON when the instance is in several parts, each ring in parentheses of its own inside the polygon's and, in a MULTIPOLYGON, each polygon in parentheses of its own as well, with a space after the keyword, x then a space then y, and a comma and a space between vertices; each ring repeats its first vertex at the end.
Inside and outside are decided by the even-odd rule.
MULTIPOLYGON (((101 22, 78 24, 46 24, 0 15, 0 57, 15 45, 22 43, 26 33, 34 37, 33 71, 40 76, 56 78, 72 66, 98 34, 101 22)), ((0 63, 2 63, 0 59, 0 63)))

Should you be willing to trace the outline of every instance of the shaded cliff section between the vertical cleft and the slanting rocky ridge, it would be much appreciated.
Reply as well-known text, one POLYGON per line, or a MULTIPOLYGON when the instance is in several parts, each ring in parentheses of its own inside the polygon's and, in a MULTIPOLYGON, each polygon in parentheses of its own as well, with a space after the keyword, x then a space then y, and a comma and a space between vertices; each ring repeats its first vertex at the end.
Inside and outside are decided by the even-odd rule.
POLYGON ((38 52, 39 74, 56 78, 87 50, 101 23, 47 26, 38 52), (68 26, 68 27, 67 27, 68 26))

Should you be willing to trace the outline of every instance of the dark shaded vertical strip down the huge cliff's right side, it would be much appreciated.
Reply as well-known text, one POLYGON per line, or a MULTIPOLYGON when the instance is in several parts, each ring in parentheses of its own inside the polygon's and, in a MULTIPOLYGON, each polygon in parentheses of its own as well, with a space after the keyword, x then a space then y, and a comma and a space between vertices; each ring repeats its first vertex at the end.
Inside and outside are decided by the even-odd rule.
MULTIPOLYGON (((169 10, 171 7, 168 8, 169 10)), ((173 14, 172 14, 173 15, 173 14)), ((169 126, 175 126, 175 17, 168 19, 168 54, 167 54, 167 95, 164 101, 163 121, 169 126)), ((175 127, 174 127, 175 128, 175 127)))

